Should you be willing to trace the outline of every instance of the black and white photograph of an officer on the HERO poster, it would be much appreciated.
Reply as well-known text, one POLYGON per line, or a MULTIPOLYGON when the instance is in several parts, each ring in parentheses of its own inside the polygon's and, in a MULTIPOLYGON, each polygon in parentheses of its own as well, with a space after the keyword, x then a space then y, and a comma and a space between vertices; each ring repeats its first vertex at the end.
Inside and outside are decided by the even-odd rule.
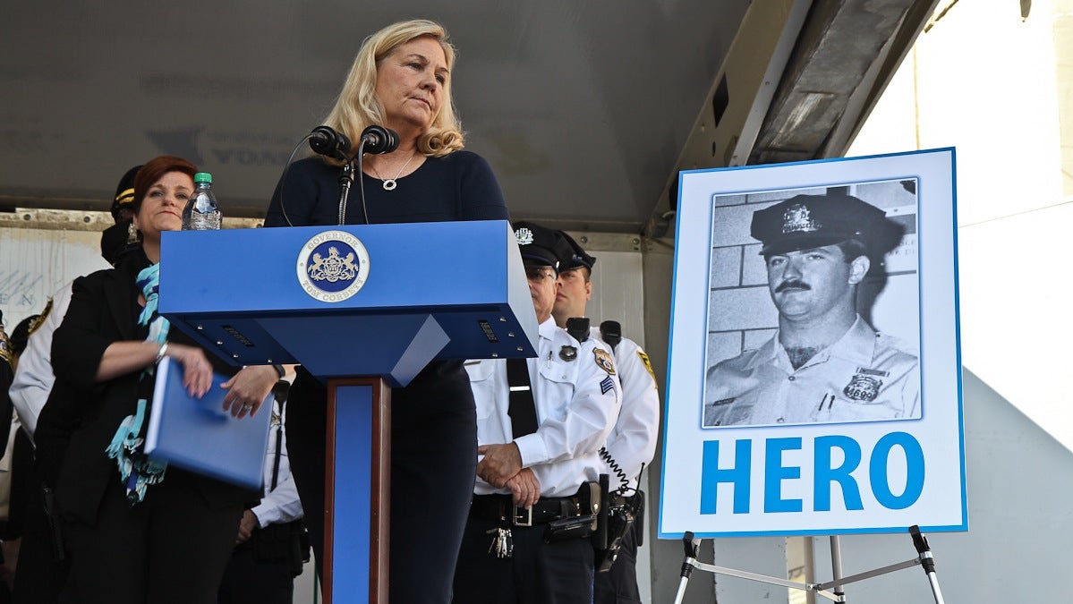
POLYGON ((712 197, 705 428, 921 417, 916 187, 712 197))

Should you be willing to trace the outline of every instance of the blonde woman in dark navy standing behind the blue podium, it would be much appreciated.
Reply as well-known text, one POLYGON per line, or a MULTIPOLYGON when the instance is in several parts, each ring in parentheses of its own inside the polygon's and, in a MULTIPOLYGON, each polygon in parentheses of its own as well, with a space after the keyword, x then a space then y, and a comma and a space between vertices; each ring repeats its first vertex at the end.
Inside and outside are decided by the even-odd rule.
MULTIPOLYGON (((357 192, 350 195, 348 224, 509 220, 488 162, 462 150, 454 64, 446 31, 428 20, 389 25, 362 45, 325 124, 355 142, 347 157, 371 124, 397 132, 399 145, 364 158, 364 207, 357 192)), ((314 157, 291 165, 265 226, 338 224, 341 163, 314 157)), ((288 401, 288 450, 318 565, 325 400, 325 388, 299 369, 288 401)), ((389 563, 399 572, 391 573, 391 601, 447 603, 476 473, 476 413, 462 362, 432 362, 395 388, 392 402, 389 563)))

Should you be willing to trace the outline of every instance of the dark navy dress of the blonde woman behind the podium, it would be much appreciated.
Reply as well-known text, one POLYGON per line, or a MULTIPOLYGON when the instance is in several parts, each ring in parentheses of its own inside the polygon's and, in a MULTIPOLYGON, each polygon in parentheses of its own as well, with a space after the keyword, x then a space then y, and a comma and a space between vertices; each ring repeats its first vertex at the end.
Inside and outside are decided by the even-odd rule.
MULTIPOLYGON (((340 168, 319 158, 284 174, 265 226, 335 225, 340 168)), ((365 176, 365 208, 355 185, 348 224, 509 220, 488 163, 457 151, 428 158, 393 191, 365 176)), ((450 250, 429 250, 450 254, 450 250)), ((300 370, 286 416, 288 454, 318 563, 324 543, 324 386, 300 370)), ((389 593, 393 603, 447 603, 476 475, 476 412, 461 360, 430 363, 392 391, 389 593)))

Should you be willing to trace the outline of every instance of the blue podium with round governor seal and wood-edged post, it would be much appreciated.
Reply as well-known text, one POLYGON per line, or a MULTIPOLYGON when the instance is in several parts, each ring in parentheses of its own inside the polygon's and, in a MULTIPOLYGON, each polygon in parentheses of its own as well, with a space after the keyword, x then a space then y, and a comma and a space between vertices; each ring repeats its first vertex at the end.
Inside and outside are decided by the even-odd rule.
POLYGON ((391 387, 536 354, 506 221, 164 233, 160 313, 233 365, 327 383, 325 603, 387 602, 391 387))

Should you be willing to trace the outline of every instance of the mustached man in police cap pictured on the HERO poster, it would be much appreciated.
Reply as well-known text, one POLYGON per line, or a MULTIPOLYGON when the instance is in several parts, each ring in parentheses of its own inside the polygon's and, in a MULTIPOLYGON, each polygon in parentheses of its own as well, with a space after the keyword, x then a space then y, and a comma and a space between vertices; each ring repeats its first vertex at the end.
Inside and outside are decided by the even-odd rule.
POLYGON ((751 235, 763 244, 779 328, 708 370, 704 425, 920 417, 916 354, 856 309, 857 285, 901 227, 857 197, 828 193, 755 211, 751 235))

